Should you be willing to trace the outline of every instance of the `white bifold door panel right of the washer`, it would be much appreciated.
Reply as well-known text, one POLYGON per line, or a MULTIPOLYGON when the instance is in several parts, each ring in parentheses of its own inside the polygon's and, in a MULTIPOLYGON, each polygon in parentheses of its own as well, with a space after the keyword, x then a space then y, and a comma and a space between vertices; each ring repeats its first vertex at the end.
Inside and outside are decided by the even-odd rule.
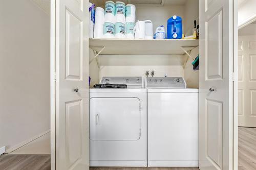
MULTIPOLYGON (((199 166, 233 167, 233 1, 199 0, 199 166)), ((237 44, 236 44, 237 46, 237 44)))

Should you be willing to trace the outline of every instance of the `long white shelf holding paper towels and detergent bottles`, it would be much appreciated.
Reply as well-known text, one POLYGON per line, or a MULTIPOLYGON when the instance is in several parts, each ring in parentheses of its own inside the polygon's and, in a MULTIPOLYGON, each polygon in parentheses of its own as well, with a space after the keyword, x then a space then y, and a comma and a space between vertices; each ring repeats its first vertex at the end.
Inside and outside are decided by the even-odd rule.
POLYGON ((198 39, 96 39, 89 46, 104 55, 183 55, 199 45, 198 39), (103 48, 103 50, 102 50, 103 48))

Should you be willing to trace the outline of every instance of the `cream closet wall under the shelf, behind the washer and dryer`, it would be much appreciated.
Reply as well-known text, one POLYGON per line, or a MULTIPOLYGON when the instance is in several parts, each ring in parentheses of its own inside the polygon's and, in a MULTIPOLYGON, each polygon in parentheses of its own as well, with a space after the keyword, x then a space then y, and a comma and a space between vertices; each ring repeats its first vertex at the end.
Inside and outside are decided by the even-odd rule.
POLYGON ((98 61, 100 69, 95 61, 90 65, 91 87, 103 76, 145 77, 146 70, 154 70, 155 77, 164 77, 165 74, 168 77, 184 77, 183 55, 100 55, 98 61))

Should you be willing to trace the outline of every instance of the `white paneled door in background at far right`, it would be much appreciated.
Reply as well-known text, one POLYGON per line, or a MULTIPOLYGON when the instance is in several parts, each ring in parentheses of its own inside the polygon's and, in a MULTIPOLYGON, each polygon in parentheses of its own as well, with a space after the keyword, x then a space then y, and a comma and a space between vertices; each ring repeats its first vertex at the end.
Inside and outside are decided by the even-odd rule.
POLYGON ((238 37, 238 126, 256 127, 256 36, 238 37))

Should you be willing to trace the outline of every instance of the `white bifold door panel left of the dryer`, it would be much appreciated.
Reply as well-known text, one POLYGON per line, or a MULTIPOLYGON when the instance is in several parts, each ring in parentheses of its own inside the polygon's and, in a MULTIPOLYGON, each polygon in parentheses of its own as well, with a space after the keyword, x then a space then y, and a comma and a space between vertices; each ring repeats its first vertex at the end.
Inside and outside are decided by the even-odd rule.
POLYGON ((85 170, 89 169, 89 2, 53 2, 55 18, 51 20, 55 19, 55 39, 51 37, 51 42, 55 41, 56 83, 55 168, 52 169, 85 170))

